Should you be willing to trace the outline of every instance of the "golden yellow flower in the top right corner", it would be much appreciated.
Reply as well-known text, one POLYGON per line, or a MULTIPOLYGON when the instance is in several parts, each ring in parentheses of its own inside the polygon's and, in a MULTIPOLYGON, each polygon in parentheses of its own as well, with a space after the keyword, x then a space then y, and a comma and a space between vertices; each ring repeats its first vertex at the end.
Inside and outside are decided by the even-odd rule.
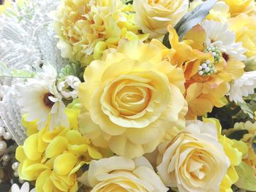
POLYGON ((236 17, 241 13, 246 13, 247 15, 255 16, 256 7, 255 0, 220 0, 225 1, 225 3, 230 7, 231 17, 236 17))

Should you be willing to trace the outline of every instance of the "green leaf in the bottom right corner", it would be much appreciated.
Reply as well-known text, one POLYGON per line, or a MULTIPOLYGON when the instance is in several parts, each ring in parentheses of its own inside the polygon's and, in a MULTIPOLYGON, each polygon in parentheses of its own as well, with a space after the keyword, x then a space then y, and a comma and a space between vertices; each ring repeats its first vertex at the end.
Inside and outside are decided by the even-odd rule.
POLYGON ((235 185, 247 191, 256 191, 256 178, 253 175, 252 167, 242 161, 235 169, 239 177, 235 185))

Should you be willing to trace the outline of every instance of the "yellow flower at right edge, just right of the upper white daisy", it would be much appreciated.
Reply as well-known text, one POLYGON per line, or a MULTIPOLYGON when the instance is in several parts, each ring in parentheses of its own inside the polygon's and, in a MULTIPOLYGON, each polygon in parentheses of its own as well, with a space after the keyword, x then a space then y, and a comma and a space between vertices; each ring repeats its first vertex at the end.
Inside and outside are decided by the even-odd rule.
POLYGON ((230 30, 236 33, 236 42, 242 42, 246 56, 256 56, 256 20, 246 14, 240 14, 229 21, 230 30))

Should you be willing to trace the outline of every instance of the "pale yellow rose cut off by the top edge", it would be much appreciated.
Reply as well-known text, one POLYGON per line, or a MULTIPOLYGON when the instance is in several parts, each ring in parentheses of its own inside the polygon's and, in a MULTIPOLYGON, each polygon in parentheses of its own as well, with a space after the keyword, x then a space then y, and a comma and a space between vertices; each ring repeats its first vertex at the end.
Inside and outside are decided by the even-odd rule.
POLYGON ((188 0, 134 0, 135 23, 151 37, 167 33, 167 26, 175 26, 187 13, 188 0))

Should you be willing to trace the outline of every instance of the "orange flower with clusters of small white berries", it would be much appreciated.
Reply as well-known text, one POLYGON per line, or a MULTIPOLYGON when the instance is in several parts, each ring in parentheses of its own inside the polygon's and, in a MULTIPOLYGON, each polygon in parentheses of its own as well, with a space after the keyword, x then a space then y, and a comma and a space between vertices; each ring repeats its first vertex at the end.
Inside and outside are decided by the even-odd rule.
MULTIPOLYGON (((184 95, 189 104, 187 119, 195 119, 206 112, 211 112, 214 106, 223 107, 225 101, 222 98, 229 90, 227 83, 241 77, 244 73, 244 64, 233 59, 231 55, 225 61, 219 48, 211 47, 211 50, 208 50, 208 36, 202 26, 197 25, 188 31, 181 42, 178 42, 178 34, 174 28, 168 26, 168 31, 172 48, 162 49, 170 64, 181 66, 184 70, 187 89, 184 95)), ((218 42, 219 45, 224 45, 223 42, 218 42)), ((152 43, 161 47, 157 40, 152 43)), ((238 53, 241 53, 241 49, 238 49, 238 53)), ((244 57, 242 53, 240 55, 234 57, 244 57)))

